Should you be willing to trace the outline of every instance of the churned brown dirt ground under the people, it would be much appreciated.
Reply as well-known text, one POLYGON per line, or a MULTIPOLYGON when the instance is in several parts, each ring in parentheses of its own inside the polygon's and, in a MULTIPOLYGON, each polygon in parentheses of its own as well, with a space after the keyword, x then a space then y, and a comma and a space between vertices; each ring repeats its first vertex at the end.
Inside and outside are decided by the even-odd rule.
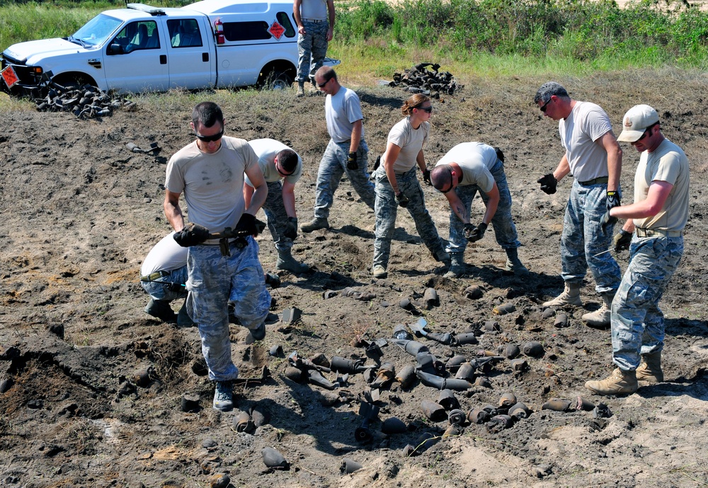
MULTIPOLYGON (((535 183, 562 155, 556 123, 542 119, 532 103, 547 79, 459 81, 464 90, 433 103, 426 159, 434 164, 469 140, 503 149, 523 243, 520 257, 530 277, 502 272, 505 254, 490 229, 468 247, 466 276, 444 278, 409 215, 399 212, 389 278, 373 279, 373 213, 343 181, 331 229, 300 234, 295 243, 295 256, 312 271, 278 273, 282 286, 272 291, 276 303, 265 339, 248 346, 244 329, 232 326, 241 377, 260 378, 267 366, 270 378, 239 386, 236 409, 227 413, 211 408, 213 386, 204 375, 196 329, 143 312, 148 297, 138 281, 140 264, 169 232, 162 211, 166 161, 192 138, 192 106, 214 99, 224 109, 229 135, 273 137, 302 156, 304 176, 296 186, 302 224, 312 217, 317 167, 328 141, 324 98, 295 98, 294 92, 167 94, 139 98, 136 110, 118 110, 102 120, 19 109, 3 113, 0 486, 218 487, 226 485, 223 475, 233 487, 708 486, 707 77, 673 69, 556 77, 573 98, 600 103, 615 127, 634 104, 654 106, 664 134, 691 161, 685 254, 661 303, 666 382, 618 398, 590 395, 583 387, 612 369, 610 332, 589 329, 580 320, 599 307, 593 278, 586 278, 583 308, 556 311, 568 314, 568 327, 554 327, 555 317, 544 318, 540 307, 562 288, 559 237, 571 183, 562 181, 555 195, 535 183), (162 150, 157 156, 135 154, 127 142, 159 142, 162 150), (481 297, 465 297, 470 285, 479 286, 481 297), (345 296, 347 287, 358 294, 345 296), (428 307, 423 300, 428 288, 437 291, 439 305, 428 307), (404 298, 413 300, 420 315, 399 306, 404 298), (513 312, 493 312, 507 302, 513 312), (291 307, 302 317, 282 322, 291 307), (438 391, 418 380, 407 389, 394 381, 380 392, 379 413, 370 423, 373 440, 358 443, 360 402, 371 395, 364 374, 350 375, 331 391, 284 375, 293 351, 304 358, 364 358, 375 365, 358 347, 359 339, 387 339, 381 361, 400 372, 416 360, 392 343, 392 330, 421 317, 433 332, 476 334, 479 344, 464 346, 418 339, 443 363, 455 355, 472 360, 481 350, 541 342, 544 356, 521 356, 527 370, 515 371, 504 358, 480 370, 483 379, 469 390, 455 392, 465 414, 497 406, 507 392, 532 414, 499 432, 467 423, 459 435, 442 438, 447 418, 432 421, 421 408, 425 400, 437 401, 438 391), (487 321, 498 322, 500 330, 484 331, 487 321), (283 353, 270 356, 278 345, 283 353), (185 394, 198 396, 198 412, 183 412, 185 394), (611 416, 542 409, 549 399, 578 396, 604 402, 611 416), (252 433, 236 431, 236 416, 254 406, 269 420, 252 433), (391 417, 406 424, 403 433, 380 433, 391 417), (418 446, 426 434, 433 436, 432 446, 404 455, 407 445, 418 446), (266 447, 278 450, 290 470, 265 467, 266 447), (362 469, 342 474, 344 459, 362 469)), ((400 89, 373 85, 355 87, 370 166, 400 120, 406 97, 400 89)), ((624 201, 631 201, 638 154, 629 146, 624 151, 624 201)), ((445 198, 430 187, 424 191, 446 238, 445 198)), ((478 198, 474 220, 482 212, 478 198)), ((275 272, 270 235, 258 242, 263 267, 275 272)), ((622 268, 627 257, 625 252, 617 258, 622 268)), ((173 304, 175 310, 180 306, 173 304)), ((342 376, 323 374, 330 381, 342 376)))

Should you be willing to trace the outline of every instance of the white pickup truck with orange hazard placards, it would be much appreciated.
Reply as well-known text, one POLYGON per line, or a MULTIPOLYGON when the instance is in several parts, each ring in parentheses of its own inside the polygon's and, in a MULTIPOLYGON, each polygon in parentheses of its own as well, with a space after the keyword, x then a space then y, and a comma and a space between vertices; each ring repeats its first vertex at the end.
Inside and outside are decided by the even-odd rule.
POLYGON ((295 79, 297 25, 292 0, 127 4, 98 14, 68 38, 11 45, 1 62, 0 89, 18 94, 32 95, 50 81, 118 93, 281 88, 295 79))

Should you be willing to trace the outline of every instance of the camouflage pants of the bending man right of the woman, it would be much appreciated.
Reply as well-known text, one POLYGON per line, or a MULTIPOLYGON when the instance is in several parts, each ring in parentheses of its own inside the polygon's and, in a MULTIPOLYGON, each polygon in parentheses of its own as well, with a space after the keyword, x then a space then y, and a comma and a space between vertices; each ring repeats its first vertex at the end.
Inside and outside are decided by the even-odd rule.
MULTIPOLYGON (((516 226, 511 218, 511 194, 509 193, 509 185, 506 181, 506 173, 504 172, 504 164, 497 159, 496 164, 491 169, 491 175, 496 181, 496 187, 499 190, 499 205, 491 219, 491 225, 494 228, 496 242, 501 246, 501 249, 516 249, 521 243, 518 241, 516 226)), ((472 200, 474 195, 479 191, 484 205, 489 202, 489 196, 481 191, 479 186, 465 185, 457 186, 455 193, 462 201, 464 208, 470 215, 469 220, 473 224, 479 222, 472 219, 472 200)), ((482 213, 484 215, 484 212, 482 213)), ((467 238, 464 237, 464 224, 459 220, 455 212, 450 212, 450 242, 447 244, 447 252, 450 254, 464 253, 467 248, 467 238)))

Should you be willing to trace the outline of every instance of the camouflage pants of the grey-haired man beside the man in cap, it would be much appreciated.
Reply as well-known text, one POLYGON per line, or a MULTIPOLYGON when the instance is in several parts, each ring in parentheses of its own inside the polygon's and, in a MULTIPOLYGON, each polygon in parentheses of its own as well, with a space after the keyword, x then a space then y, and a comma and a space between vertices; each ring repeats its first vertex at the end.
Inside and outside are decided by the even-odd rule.
POLYGON ((561 277, 568 283, 581 283, 590 268, 595 291, 615 293, 621 271, 612 254, 604 252, 610 249, 613 226, 607 227, 607 232, 600 226, 607 211, 606 193, 605 183, 581 185, 573 181, 561 235, 561 277))

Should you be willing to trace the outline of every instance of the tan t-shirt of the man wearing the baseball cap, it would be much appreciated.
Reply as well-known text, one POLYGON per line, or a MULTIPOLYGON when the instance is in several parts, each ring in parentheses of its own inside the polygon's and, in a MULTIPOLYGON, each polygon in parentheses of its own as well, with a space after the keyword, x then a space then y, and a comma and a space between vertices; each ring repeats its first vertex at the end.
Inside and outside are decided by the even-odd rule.
POLYGON ((634 201, 646 200, 652 181, 666 181, 673 188, 661 210, 653 217, 634 219, 641 229, 683 230, 688 221, 688 158, 683 150, 668 139, 653 152, 644 151, 634 174, 634 201))

